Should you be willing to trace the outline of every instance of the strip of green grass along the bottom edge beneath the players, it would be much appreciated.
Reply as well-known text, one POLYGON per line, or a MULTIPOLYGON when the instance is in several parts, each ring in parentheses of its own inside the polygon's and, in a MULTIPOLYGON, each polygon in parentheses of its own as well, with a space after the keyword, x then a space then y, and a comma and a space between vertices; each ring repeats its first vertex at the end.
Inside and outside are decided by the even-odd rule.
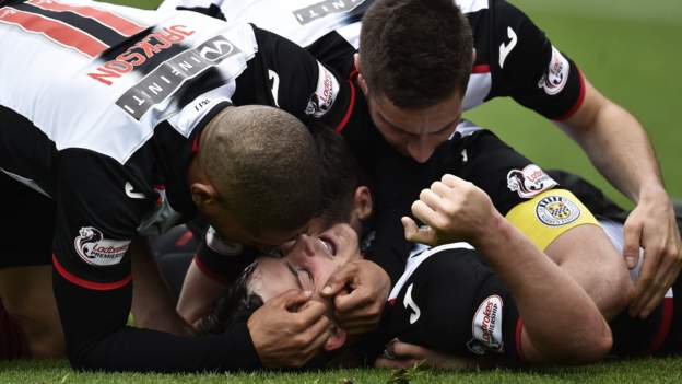
POLYGON ((242 374, 104 374, 81 373, 70 370, 63 362, 0 363, 0 383, 19 384, 361 384, 361 383, 680 383, 682 359, 643 359, 619 361, 590 366, 544 368, 526 371, 493 370, 481 372, 443 372, 410 370, 405 374, 388 370, 332 370, 308 373, 242 373, 242 374), (398 377, 407 377, 399 381, 398 377))

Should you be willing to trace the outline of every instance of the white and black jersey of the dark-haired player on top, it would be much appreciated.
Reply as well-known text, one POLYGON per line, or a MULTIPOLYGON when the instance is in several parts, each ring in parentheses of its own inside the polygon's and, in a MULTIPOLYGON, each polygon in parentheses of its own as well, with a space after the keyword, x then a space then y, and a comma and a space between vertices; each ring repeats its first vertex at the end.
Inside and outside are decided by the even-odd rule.
MULTIPOLYGON (((454 0, 474 36, 475 62, 463 109, 498 96, 555 120, 571 117, 584 97, 576 65, 521 11, 504 0, 454 0)), ((165 0, 160 10, 191 9, 255 23, 306 47, 349 75, 362 16, 372 0, 165 0)), ((415 15, 419 18, 419 15, 415 15)))

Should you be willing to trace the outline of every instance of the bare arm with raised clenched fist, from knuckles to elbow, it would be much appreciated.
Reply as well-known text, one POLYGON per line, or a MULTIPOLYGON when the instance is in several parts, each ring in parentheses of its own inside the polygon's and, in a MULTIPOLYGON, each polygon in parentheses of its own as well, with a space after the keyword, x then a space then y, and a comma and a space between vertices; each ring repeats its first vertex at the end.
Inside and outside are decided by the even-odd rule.
POLYGON ((610 351, 611 330, 590 296, 505 220, 483 190, 445 175, 422 191, 412 213, 430 229, 403 218, 408 240, 431 245, 467 241, 497 272, 522 318, 525 360, 577 363, 610 351))

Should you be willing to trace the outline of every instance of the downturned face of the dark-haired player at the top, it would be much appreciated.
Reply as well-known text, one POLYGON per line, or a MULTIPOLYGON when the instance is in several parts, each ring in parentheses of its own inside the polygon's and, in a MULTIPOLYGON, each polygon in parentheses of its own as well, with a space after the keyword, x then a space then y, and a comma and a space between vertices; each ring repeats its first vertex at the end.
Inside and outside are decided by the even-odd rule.
POLYGON ((426 162, 446 141, 461 118, 461 95, 425 108, 399 108, 384 95, 369 93, 369 114, 377 129, 400 153, 426 162))

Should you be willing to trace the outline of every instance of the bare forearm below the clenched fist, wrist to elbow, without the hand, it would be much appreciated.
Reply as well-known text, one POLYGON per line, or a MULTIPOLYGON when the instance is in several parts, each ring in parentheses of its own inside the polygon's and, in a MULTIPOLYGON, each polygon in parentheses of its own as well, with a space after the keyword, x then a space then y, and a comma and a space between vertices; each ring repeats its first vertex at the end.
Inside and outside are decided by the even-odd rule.
POLYGON ((557 362, 590 361, 611 348, 611 331, 578 283, 497 214, 474 242, 511 292, 532 348, 557 362), (561 329, 561 331, 557 331, 561 329))

